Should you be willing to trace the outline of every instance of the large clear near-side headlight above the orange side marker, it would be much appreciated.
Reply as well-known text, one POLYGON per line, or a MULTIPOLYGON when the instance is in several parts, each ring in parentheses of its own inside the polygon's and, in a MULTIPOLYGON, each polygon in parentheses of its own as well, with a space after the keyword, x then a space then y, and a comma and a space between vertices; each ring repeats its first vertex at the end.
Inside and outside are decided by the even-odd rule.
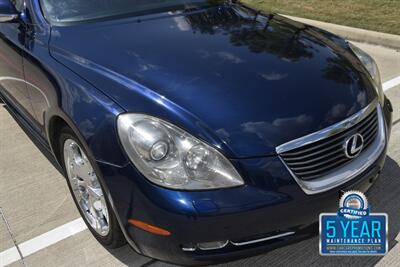
POLYGON ((244 184, 220 152, 166 121, 143 114, 122 114, 117 125, 130 160, 153 183, 182 190, 244 184))

